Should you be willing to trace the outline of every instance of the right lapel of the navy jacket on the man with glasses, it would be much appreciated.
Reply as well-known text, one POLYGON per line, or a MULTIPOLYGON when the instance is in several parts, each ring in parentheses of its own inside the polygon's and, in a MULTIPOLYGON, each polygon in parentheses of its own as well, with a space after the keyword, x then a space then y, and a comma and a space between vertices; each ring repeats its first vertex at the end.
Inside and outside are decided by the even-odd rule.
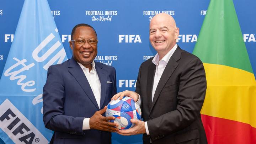
POLYGON ((107 75, 106 75, 106 71, 97 62, 95 62, 95 68, 101 82, 101 100, 100 100, 100 109, 101 109, 106 98, 107 75))

